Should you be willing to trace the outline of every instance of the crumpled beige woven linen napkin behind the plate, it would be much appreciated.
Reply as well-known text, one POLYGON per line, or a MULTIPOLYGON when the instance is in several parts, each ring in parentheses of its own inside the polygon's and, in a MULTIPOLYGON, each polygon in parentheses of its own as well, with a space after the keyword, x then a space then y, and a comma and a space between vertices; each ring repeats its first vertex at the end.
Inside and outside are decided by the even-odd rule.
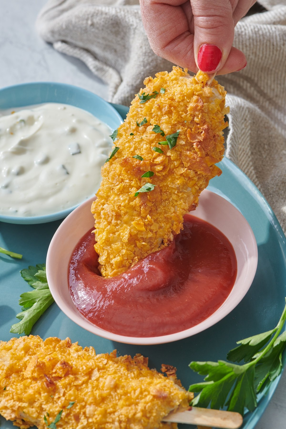
MULTIPOLYGON (((218 77, 230 106, 226 156, 261 190, 286 232, 286 4, 260 3, 267 11, 235 30, 247 67, 218 77)), ((138 0, 48 0, 36 27, 105 81, 113 103, 129 106, 146 76, 172 69, 151 51, 138 0)))

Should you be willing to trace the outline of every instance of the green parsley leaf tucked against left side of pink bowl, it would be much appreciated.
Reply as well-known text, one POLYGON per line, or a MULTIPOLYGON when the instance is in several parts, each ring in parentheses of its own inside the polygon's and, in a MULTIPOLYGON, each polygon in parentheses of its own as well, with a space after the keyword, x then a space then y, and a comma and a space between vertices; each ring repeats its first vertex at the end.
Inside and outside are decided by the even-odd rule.
POLYGON ((20 295, 19 304, 22 305, 21 313, 16 315, 21 322, 11 326, 10 332, 29 335, 31 329, 45 310, 54 302, 48 287, 45 272, 45 264, 36 267, 29 266, 21 271, 21 276, 34 288, 20 295))

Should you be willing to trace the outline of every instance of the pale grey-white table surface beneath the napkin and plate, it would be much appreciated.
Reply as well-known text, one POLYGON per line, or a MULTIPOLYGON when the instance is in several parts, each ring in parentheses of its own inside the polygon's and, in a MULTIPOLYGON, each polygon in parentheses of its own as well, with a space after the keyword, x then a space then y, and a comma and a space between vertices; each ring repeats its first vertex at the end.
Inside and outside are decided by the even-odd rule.
MULTIPOLYGON (((0 88, 23 82, 64 82, 105 98, 106 85, 84 63, 60 54, 37 35, 34 23, 45 1, 0 0, 0 88)), ((286 371, 255 429, 285 428, 286 371)))

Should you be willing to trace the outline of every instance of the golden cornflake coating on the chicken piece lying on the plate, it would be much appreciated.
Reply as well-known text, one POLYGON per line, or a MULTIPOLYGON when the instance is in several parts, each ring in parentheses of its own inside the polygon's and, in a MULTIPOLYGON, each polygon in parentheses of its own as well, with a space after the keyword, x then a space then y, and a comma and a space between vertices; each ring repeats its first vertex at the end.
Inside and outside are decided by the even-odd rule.
POLYGON ((21 429, 44 429, 44 415, 50 425, 61 410, 57 429, 177 428, 160 423, 193 398, 176 382, 141 355, 96 355, 69 338, 0 341, 0 414, 21 429))

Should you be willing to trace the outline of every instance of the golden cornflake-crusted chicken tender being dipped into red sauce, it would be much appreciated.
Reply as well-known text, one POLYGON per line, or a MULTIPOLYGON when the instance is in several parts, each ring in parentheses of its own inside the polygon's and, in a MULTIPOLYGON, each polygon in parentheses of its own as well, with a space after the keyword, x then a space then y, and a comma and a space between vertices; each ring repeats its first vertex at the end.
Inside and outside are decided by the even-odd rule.
POLYGON ((223 158, 229 110, 224 88, 215 80, 209 87, 208 79, 173 67, 145 79, 132 101, 91 208, 103 277, 168 246, 209 180, 221 174, 215 163, 223 158))

